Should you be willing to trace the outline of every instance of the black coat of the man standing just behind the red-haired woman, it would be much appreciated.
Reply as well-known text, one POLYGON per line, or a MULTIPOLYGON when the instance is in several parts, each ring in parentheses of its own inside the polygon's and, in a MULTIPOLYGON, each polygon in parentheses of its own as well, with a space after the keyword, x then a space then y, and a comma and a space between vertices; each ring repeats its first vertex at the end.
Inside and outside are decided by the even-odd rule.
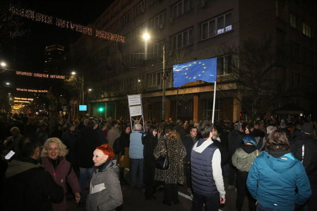
POLYGON ((99 135, 93 127, 85 127, 78 135, 76 151, 78 166, 90 169, 93 167, 93 153, 102 144, 99 135))

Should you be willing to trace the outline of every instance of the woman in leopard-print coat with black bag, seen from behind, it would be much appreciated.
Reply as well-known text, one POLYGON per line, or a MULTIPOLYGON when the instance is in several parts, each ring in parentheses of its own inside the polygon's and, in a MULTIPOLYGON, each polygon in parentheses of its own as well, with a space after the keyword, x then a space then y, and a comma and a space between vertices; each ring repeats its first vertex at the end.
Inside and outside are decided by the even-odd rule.
POLYGON ((167 153, 169 166, 167 169, 155 169, 155 179, 163 182, 164 200, 163 204, 171 206, 171 202, 177 204, 177 184, 184 183, 183 159, 186 156, 186 149, 179 138, 178 132, 170 129, 168 136, 159 141, 154 150, 154 156, 159 158, 167 153))

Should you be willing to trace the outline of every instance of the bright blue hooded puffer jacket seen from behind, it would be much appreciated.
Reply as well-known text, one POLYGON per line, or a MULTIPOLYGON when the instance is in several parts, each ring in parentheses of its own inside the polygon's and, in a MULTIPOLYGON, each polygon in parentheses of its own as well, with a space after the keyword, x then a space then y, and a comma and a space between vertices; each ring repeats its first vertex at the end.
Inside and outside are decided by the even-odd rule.
POLYGON ((292 153, 274 158, 264 151, 250 168, 247 186, 261 205, 281 211, 293 211, 312 194, 305 169, 292 153))

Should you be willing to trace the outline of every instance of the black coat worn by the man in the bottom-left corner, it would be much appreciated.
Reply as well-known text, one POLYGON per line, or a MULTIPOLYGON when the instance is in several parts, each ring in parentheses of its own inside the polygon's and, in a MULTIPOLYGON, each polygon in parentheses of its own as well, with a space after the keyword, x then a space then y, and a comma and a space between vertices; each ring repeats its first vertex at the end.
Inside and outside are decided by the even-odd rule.
MULTIPOLYGON (((22 166, 13 168, 19 171, 23 166, 22 163, 22 166)), ((52 202, 60 203, 63 200, 63 188, 42 166, 35 166, 6 179, 0 196, 1 211, 53 211, 52 202)))

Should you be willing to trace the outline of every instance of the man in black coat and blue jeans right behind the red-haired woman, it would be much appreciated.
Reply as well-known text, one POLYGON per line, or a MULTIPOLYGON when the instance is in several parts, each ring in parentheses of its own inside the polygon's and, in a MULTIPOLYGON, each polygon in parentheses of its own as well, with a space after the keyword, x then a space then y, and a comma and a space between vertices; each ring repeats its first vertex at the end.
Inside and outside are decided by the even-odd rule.
POLYGON ((85 190, 86 180, 89 182, 93 175, 93 153, 95 149, 102 144, 97 131, 94 129, 96 123, 94 120, 89 120, 87 127, 84 127, 78 135, 76 142, 76 151, 79 166, 79 184, 81 196, 85 190))

